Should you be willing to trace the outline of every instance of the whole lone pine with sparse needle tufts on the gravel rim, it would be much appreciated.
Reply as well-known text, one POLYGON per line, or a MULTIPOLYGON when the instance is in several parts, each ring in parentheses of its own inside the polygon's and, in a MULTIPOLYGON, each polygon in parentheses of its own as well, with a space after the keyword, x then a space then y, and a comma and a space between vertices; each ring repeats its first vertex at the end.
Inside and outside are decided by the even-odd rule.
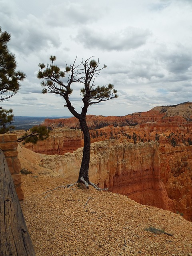
POLYGON ((88 188, 88 185, 92 185, 98 189, 98 187, 89 180, 89 162, 90 162, 90 132, 86 122, 86 114, 88 107, 92 104, 98 104, 102 101, 117 98, 117 90, 114 89, 112 84, 105 86, 96 86, 95 78, 100 74, 100 71, 106 68, 99 68, 100 62, 88 58, 82 60, 80 64, 76 65, 76 59, 70 66, 66 65, 65 71, 55 64, 56 56, 50 56, 50 64, 39 64, 40 70, 37 77, 42 79, 41 85, 43 86, 42 93, 59 94, 65 100, 64 106, 68 108, 73 116, 78 118, 80 127, 84 134, 84 148, 81 167, 79 171, 79 177, 77 182, 82 182, 88 188), (63 78, 69 73, 67 81, 63 78), (64 82, 66 81, 66 82, 64 82), (82 98, 83 106, 81 112, 78 113, 72 102, 70 101, 70 95, 73 92, 72 86, 74 83, 80 83, 83 87, 80 89, 80 96, 82 98))

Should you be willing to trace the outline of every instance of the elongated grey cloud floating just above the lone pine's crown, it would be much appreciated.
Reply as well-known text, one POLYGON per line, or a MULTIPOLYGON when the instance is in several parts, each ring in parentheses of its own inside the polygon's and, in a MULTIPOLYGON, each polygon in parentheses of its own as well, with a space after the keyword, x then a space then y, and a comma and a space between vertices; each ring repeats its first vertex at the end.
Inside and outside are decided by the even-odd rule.
POLYGON ((150 36, 150 30, 134 27, 126 27, 114 32, 84 28, 78 31, 75 40, 84 44, 86 48, 123 51, 136 49, 146 44, 146 40, 150 36))

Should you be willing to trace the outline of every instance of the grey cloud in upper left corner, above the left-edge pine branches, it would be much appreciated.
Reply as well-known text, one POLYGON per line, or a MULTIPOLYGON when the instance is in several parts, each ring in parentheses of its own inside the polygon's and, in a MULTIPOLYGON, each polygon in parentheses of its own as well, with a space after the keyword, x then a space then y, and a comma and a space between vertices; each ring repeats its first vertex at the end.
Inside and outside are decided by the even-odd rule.
POLYGON ((11 33, 10 47, 15 52, 20 52, 22 55, 39 52, 42 49, 50 46, 58 48, 61 44, 59 34, 51 31, 44 21, 32 14, 28 14, 22 19, 14 8, 18 6, 10 6, 8 2, 3 2, 4 9, 0 9, 2 22, 2 30, 7 30, 11 33))

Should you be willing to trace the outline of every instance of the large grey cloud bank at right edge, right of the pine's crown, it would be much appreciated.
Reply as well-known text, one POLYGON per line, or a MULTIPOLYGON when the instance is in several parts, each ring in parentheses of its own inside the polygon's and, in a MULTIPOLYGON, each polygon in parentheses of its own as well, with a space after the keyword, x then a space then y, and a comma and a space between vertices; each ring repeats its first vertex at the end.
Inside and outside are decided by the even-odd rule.
POLYGON ((131 60, 118 61, 106 70, 111 76, 127 83, 134 80, 149 84, 191 81, 192 50, 180 44, 159 45, 154 50, 137 50, 131 60))

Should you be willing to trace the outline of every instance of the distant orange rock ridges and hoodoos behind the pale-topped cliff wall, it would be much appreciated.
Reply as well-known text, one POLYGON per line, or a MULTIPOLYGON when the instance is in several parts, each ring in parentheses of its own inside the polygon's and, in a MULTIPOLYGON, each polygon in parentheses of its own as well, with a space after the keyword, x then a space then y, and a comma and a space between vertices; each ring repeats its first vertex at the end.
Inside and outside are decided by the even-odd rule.
MULTIPOLYGON (((91 142, 106 139, 117 139, 120 142, 126 139, 133 143, 158 140, 160 144, 169 143, 179 146, 188 145, 192 141, 190 117, 192 117, 192 102, 174 107, 155 107, 150 111, 128 116, 88 115, 87 122, 90 127, 91 142), (135 134, 136 137, 133 138, 135 134)), ((80 128, 76 118, 46 119, 44 124, 50 127, 80 128)))

